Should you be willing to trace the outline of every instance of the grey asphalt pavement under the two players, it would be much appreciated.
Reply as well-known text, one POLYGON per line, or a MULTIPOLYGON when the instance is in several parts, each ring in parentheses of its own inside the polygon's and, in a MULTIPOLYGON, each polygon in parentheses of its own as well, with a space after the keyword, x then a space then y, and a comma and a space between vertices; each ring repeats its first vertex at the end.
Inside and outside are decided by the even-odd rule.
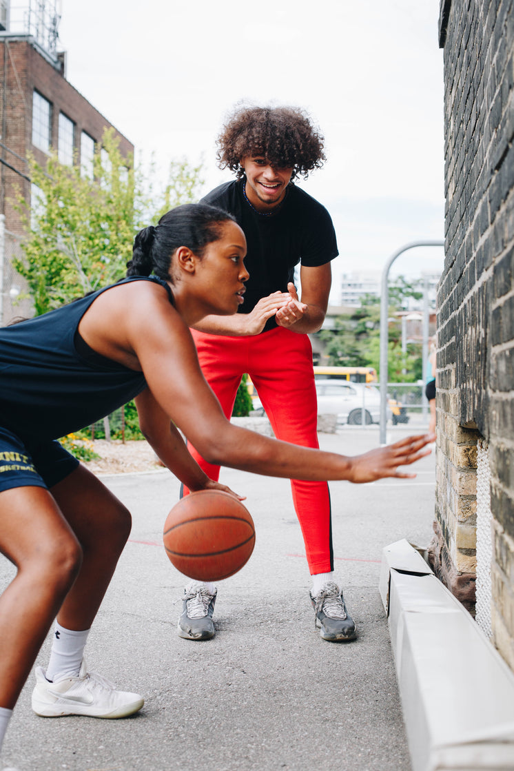
MULTIPOLYGON (((391 430, 391 439, 412 433, 391 430)), ((378 429, 321 434, 322 449, 357 454, 378 429)), ((20 771, 410 771, 388 625, 378 594, 381 549, 432 534, 435 458, 415 480, 331 483, 335 568, 358 639, 314 631, 310 578, 287 480, 233 470, 257 528, 250 562, 219 585, 217 636, 176 635, 183 577, 162 547, 179 483, 166 470, 104 477, 133 513, 133 531, 89 638, 92 670, 140 692, 133 718, 41 719, 25 686, 5 740, 20 771)), ((12 568, 0 559, 0 586, 12 568)), ((44 577, 42 577, 44 580, 44 577)), ((48 660, 49 642, 39 655, 48 660)))

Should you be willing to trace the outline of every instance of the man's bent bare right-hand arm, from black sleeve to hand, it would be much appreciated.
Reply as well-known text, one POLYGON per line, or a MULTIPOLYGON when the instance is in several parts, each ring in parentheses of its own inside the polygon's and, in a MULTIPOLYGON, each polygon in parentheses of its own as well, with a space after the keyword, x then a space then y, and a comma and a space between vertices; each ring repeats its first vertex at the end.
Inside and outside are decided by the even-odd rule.
POLYGON ((291 299, 277 311, 277 324, 293 332, 307 334, 321 329, 328 307, 328 295, 332 284, 330 262, 300 270, 301 301, 293 284, 288 284, 291 299))

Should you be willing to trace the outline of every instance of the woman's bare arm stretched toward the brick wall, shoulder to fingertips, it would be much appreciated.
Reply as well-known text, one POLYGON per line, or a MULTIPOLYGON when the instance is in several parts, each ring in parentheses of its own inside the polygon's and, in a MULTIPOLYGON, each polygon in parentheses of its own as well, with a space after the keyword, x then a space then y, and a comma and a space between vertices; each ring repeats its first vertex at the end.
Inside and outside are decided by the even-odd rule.
POLYGON ((203 377, 188 328, 165 298, 149 302, 145 295, 124 322, 126 338, 163 413, 210 463, 286 479, 370 482, 383 476, 415 476, 398 466, 429 452, 423 448, 433 436, 415 436, 349 457, 233 426, 203 377))

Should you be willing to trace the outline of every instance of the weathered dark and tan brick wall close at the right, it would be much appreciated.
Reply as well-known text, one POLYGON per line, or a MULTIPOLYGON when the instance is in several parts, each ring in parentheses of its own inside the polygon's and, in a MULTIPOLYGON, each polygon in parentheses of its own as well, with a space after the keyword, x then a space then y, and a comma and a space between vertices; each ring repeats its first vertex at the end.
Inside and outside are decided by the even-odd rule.
POLYGON ((514 668, 514 2, 442 0, 436 572, 514 668))

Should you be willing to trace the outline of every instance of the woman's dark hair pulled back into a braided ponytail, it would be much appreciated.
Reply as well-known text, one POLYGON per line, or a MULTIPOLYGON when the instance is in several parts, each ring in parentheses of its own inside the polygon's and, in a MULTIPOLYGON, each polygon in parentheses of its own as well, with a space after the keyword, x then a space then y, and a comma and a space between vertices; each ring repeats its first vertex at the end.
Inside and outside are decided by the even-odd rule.
POLYGON ((171 281, 171 258, 176 249, 186 246, 202 258, 207 244, 221 237, 225 222, 235 222, 235 219, 209 204, 177 206, 164 214, 156 227, 144 227, 136 235, 132 260, 126 264, 127 276, 153 273, 163 281, 171 281))

